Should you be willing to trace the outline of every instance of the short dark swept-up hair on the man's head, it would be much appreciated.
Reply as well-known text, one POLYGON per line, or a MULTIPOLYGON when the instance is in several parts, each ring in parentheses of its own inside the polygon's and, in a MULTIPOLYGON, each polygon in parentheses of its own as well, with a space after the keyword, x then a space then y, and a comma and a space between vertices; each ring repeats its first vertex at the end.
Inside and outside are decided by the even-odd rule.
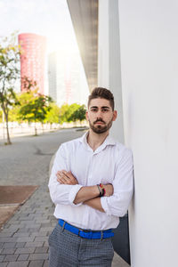
POLYGON ((88 107, 89 107, 90 101, 95 98, 104 98, 104 99, 109 100, 110 107, 112 108, 112 110, 114 110, 114 96, 108 89, 103 88, 103 87, 95 87, 92 93, 88 97, 88 107))

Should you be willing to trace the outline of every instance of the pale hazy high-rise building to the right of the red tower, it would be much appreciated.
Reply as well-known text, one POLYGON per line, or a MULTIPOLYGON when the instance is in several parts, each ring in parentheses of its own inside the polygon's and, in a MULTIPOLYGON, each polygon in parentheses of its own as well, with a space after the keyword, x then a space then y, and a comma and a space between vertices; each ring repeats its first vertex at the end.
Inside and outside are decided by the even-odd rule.
POLYGON ((48 81, 49 95, 59 106, 74 102, 86 104, 89 89, 79 52, 61 49, 50 53, 48 81))

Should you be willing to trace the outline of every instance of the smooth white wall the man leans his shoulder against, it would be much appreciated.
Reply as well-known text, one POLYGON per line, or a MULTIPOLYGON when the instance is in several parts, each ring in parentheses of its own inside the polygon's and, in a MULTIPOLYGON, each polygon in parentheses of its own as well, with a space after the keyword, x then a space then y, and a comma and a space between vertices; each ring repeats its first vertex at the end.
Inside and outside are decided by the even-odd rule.
POLYGON ((133 267, 178 266, 178 2, 119 0, 133 267))

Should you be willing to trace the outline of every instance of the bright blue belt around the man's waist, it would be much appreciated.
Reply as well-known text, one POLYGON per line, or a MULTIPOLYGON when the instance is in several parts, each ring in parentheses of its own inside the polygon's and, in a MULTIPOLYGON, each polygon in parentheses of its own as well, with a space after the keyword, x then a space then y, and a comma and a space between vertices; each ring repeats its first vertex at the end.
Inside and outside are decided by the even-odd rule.
POLYGON ((83 239, 109 239, 111 237, 114 237, 112 229, 104 231, 90 231, 90 230, 79 229, 61 219, 59 219, 58 223, 64 229, 73 232, 78 237, 81 237, 83 239))

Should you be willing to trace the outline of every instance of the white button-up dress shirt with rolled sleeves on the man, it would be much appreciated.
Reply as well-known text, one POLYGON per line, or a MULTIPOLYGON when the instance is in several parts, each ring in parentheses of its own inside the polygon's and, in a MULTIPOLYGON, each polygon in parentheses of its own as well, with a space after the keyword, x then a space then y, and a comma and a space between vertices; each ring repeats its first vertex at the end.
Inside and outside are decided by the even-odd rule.
POLYGON ((117 228, 119 217, 125 215, 133 195, 133 157, 131 150, 109 135, 97 150, 81 138, 62 143, 53 162, 49 181, 50 195, 55 204, 54 216, 82 229, 107 230, 117 228), (77 178, 78 184, 57 182, 58 171, 65 170, 77 178), (73 203, 83 186, 112 183, 114 193, 101 197, 105 213, 91 206, 73 203))

